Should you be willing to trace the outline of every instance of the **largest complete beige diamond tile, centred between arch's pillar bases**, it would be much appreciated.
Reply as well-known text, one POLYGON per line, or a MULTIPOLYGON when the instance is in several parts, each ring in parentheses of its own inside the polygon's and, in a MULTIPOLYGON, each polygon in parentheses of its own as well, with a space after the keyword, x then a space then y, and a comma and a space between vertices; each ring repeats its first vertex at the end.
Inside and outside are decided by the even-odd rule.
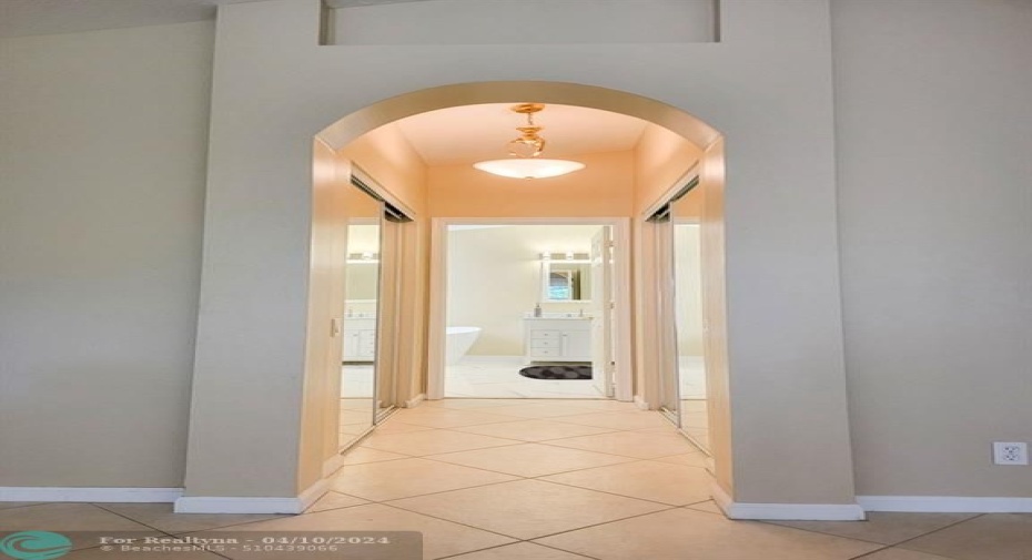
POLYGON ((391 502, 519 539, 611 521, 665 506, 568 486, 517 480, 391 502))

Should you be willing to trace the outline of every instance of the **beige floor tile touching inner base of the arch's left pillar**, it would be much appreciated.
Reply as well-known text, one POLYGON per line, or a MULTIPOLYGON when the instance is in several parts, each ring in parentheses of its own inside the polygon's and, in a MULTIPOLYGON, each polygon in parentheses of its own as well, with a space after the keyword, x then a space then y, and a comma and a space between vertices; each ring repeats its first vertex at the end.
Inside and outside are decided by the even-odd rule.
POLYGON ((331 485, 338 492, 384 501, 514 479, 499 472, 413 458, 348 465, 337 471, 331 485))

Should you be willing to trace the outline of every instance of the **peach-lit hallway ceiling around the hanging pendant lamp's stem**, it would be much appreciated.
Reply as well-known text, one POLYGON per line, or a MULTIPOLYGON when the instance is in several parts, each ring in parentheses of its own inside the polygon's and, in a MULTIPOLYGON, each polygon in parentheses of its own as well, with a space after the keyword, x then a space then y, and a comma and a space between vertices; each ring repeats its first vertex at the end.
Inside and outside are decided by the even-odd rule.
MULTIPOLYGON (((431 111, 397 121, 402 134, 427 165, 451 165, 507 157, 506 144, 519 135, 526 118, 514 103, 465 105, 431 111)), ((633 150, 648 123, 597 109, 546 105, 535 116, 544 126, 544 157, 633 150)))

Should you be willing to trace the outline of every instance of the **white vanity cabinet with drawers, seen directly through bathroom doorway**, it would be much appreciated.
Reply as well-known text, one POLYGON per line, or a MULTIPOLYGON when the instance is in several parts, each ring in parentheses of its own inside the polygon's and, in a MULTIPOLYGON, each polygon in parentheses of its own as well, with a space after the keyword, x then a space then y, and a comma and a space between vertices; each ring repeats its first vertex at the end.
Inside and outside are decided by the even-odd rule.
POLYGON ((527 362, 591 362, 590 318, 528 317, 523 324, 527 362))

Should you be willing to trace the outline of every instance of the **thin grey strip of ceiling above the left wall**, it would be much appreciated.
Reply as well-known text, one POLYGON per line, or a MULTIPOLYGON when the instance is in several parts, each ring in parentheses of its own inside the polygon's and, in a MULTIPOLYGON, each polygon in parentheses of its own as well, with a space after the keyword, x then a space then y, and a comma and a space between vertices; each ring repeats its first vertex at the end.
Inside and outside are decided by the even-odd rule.
MULTIPOLYGON (((77 33, 214 19, 222 4, 262 0, 0 0, 0 37, 77 33)), ((331 8, 425 0, 327 0, 331 8)))

